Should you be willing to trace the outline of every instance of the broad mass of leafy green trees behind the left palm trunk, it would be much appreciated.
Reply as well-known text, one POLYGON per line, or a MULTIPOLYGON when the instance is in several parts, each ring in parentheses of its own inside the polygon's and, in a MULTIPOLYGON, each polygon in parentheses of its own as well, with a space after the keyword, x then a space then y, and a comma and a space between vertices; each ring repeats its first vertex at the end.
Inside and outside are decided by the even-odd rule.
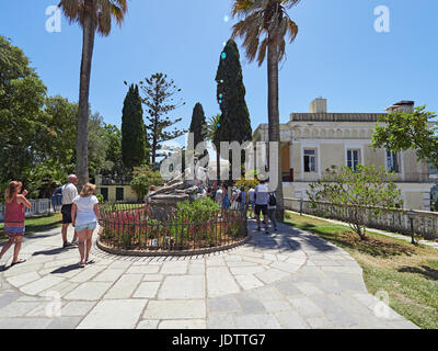
MULTIPOLYGON (((20 180, 31 197, 50 197, 77 162, 78 103, 46 91, 24 53, 0 36, 0 188, 20 180)), ((88 129, 92 177, 122 172, 118 128, 89 111, 88 129)))

